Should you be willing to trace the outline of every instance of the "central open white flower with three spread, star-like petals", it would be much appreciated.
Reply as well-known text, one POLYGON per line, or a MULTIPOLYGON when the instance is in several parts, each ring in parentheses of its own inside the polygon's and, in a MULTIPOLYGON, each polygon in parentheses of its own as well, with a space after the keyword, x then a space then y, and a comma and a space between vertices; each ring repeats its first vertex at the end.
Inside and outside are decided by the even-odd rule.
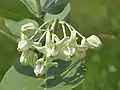
POLYGON ((44 53, 46 55, 46 57, 54 57, 54 56, 57 56, 60 51, 62 50, 63 46, 67 43, 67 41, 69 40, 68 37, 66 38, 63 38, 62 40, 54 43, 52 40, 51 40, 51 33, 50 31, 48 30, 47 33, 46 33, 46 43, 45 43, 45 46, 36 46, 36 45, 33 45, 38 51, 44 53))

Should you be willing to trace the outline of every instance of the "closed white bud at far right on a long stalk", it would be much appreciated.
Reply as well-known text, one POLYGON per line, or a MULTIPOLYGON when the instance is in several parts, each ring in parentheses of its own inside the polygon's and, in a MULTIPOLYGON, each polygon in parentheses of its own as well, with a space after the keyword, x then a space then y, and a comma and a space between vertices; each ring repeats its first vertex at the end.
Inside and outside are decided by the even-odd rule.
POLYGON ((92 49, 100 47, 102 44, 100 39, 95 35, 91 35, 86 39, 86 41, 88 42, 89 48, 92 48, 92 49))

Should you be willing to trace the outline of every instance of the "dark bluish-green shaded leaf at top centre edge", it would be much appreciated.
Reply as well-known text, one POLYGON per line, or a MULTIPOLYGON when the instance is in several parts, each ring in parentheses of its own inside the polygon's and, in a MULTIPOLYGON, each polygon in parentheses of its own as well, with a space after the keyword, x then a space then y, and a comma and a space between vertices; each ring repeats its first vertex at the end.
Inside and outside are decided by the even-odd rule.
POLYGON ((50 14, 61 13, 66 7, 66 5, 69 3, 69 0, 40 0, 40 1, 41 10, 50 14))

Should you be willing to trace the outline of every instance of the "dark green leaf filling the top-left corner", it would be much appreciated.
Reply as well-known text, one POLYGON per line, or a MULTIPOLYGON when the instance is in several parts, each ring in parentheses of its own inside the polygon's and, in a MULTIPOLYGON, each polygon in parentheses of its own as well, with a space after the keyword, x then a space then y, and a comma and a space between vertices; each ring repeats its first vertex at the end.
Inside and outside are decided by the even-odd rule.
POLYGON ((20 0, 1 0, 0 1, 0 16, 13 19, 15 21, 36 17, 26 8, 20 0))

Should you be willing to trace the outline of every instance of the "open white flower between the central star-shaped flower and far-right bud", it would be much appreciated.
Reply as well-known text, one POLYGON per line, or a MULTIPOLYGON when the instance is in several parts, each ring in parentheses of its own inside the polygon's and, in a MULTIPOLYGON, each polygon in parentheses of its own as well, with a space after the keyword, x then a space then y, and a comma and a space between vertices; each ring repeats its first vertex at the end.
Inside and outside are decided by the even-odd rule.
POLYGON ((68 56, 67 59, 69 60, 73 58, 76 60, 82 59, 86 55, 86 50, 88 47, 83 44, 84 41, 82 41, 81 45, 78 45, 76 39, 76 31, 73 30, 71 31, 71 36, 68 43, 66 44, 66 48, 63 50, 63 53, 68 56))

